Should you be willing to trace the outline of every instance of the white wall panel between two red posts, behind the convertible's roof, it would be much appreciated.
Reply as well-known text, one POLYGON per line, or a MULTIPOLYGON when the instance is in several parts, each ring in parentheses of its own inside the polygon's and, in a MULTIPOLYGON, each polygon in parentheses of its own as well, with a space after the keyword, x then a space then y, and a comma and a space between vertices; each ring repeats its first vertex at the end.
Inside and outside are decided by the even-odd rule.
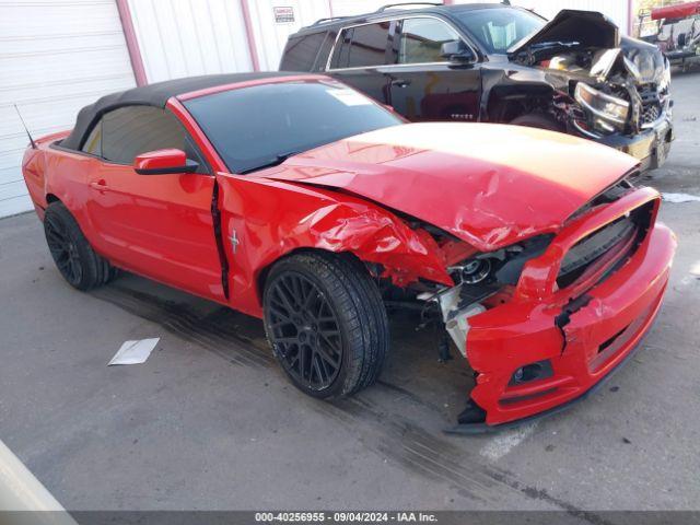
POLYGON ((129 0, 149 82, 252 71, 236 0, 129 0))

